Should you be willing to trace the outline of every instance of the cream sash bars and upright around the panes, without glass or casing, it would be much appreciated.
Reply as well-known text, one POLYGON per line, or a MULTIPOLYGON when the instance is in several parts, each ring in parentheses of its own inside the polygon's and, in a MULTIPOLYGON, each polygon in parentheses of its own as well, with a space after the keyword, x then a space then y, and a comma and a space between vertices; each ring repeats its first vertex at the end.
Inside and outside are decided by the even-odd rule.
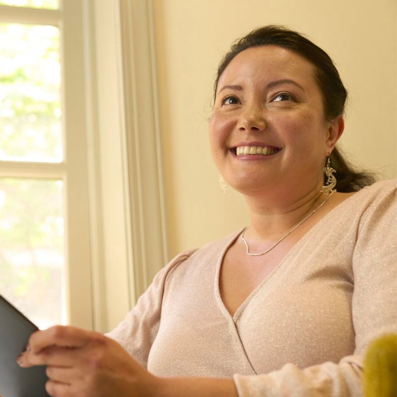
POLYGON ((61 1, 60 9, 0 6, 0 21, 53 25, 60 29, 64 161, 0 161, 0 177, 61 179, 64 182, 66 321, 92 328, 87 150, 85 135, 82 3, 61 1), (62 4, 63 3, 63 4, 62 4), (71 293, 73 291, 73 293, 71 293))

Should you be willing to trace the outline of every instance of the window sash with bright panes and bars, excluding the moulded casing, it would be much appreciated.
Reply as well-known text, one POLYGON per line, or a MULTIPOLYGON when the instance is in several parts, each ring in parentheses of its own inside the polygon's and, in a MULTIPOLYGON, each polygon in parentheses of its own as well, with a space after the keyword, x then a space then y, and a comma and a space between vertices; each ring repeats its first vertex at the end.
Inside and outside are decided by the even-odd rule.
POLYGON ((82 15, 0 0, 0 293, 40 328, 92 327, 82 15))

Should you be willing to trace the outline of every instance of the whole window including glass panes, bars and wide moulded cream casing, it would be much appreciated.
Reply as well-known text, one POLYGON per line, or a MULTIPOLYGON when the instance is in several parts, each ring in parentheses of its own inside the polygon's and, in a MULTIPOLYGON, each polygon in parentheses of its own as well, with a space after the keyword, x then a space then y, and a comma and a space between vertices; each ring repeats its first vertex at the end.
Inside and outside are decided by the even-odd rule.
POLYGON ((168 259, 152 3, 0 0, 0 24, 35 32, 49 84, 31 44, 12 82, 0 66, 0 96, 38 97, 19 120, 1 96, 0 293, 41 327, 109 331, 168 259))

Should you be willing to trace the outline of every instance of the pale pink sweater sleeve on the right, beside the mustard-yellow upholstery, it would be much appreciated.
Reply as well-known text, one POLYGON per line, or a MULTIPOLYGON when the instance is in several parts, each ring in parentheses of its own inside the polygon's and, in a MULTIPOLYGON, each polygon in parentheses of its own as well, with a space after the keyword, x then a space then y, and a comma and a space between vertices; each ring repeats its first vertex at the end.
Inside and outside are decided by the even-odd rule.
POLYGON ((363 354, 369 342, 397 331, 396 186, 363 212, 353 253, 353 355, 300 369, 292 363, 261 375, 234 375, 239 397, 362 396, 363 354))

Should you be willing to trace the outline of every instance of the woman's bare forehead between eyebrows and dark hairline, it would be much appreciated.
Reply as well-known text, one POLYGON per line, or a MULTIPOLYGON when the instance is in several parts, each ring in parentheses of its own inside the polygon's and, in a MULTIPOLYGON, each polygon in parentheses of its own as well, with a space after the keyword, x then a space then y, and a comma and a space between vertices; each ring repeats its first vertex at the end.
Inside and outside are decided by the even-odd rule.
POLYGON ((316 85, 314 66, 302 56, 283 47, 251 47, 237 54, 225 68, 218 89, 225 84, 249 84, 274 79, 294 79, 302 85, 316 85))

